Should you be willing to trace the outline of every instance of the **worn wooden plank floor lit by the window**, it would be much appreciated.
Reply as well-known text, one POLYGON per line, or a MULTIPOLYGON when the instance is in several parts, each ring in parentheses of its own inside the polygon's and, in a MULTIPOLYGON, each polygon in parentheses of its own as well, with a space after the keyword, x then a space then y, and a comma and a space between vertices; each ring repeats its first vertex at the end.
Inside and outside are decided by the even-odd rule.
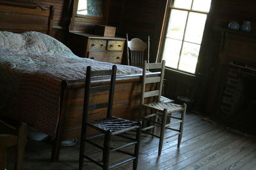
MULTIPOLYGON (((180 148, 177 148, 177 137, 166 139, 161 157, 157 157, 159 139, 142 134, 138 169, 256 169, 255 139, 234 134, 201 118, 200 115, 187 114, 180 148)), ((115 142, 111 145, 114 147, 123 143, 120 138, 113 140, 115 142)), ((8 170, 12 169, 12 150, 8 152, 8 170)), ((24 169, 78 169, 78 155, 79 145, 63 147, 60 161, 50 162, 51 143, 29 140, 24 169)), ((122 158, 121 153, 113 153, 111 161, 122 158)), ((95 159, 100 160, 100 155, 95 155, 95 159)), ((84 160, 84 167, 100 169, 87 160, 84 160)), ((115 169, 132 169, 132 162, 115 169)))

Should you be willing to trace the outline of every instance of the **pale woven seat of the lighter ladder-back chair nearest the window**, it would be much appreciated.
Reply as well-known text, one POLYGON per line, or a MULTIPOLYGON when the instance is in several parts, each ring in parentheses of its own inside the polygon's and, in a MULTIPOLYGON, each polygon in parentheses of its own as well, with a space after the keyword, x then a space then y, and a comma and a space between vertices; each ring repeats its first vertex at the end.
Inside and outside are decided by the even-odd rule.
POLYGON ((182 105, 166 103, 163 101, 155 102, 155 103, 145 103, 143 104, 143 106, 151 108, 153 110, 157 110, 157 111, 163 111, 164 109, 166 109, 168 114, 184 110, 184 107, 182 105))

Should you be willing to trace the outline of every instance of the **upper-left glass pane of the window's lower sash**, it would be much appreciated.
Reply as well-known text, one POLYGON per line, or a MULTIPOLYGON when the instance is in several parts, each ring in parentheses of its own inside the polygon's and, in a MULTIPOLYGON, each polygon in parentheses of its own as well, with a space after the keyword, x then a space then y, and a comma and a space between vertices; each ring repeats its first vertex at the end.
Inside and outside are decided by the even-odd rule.
POLYGON ((183 39, 188 11, 172 10, 166 37, 183 39))

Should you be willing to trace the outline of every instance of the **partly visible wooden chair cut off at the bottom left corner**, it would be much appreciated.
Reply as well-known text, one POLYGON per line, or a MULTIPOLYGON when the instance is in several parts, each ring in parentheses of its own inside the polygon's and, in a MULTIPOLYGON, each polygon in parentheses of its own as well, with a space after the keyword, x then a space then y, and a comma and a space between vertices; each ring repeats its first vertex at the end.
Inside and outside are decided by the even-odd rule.
POLYGON ((27 143, 28 126, 21 123, 17 128, 0 120, 0 169, 3 170, 6 161, 6 149, 17 145, 17 162, 15 169, 22 169, 23 155, 27 143))

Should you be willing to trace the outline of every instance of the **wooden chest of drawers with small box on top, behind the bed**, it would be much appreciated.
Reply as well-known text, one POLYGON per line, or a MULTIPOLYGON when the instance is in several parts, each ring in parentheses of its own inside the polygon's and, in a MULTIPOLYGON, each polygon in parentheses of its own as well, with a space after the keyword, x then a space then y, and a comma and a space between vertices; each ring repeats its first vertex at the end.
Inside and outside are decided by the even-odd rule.
POLYGON ((70 32, 69 47, 79 57, 122 64, 124 38, 70 32))

